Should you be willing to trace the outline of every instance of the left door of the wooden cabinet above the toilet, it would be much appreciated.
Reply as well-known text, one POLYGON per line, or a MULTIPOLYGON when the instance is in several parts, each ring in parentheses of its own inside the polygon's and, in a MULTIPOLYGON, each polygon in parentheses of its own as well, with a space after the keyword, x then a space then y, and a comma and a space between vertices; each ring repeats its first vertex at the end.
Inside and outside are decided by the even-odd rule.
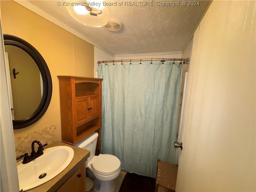
POLYGON ((76 99, 76 126, 90 119, 88 97, 76 99))

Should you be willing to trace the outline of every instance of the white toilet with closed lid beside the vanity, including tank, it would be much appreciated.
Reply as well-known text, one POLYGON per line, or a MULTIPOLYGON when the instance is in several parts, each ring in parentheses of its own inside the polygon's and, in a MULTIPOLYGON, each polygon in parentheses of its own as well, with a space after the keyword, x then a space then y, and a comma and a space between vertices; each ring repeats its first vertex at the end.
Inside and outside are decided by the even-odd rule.
POLYGON ((121 172, 121 162, 116 156, 110 154, 100 154, 96 156, 97 139, 98 133, 93 132, 76 143, 75 146, 90 151, 90 157, 88 157, 86 161, 86 168, 100 181, 99 190, 96 188, 95 190, 99 192, 114 192, 114 179, 117 178, 121 172))

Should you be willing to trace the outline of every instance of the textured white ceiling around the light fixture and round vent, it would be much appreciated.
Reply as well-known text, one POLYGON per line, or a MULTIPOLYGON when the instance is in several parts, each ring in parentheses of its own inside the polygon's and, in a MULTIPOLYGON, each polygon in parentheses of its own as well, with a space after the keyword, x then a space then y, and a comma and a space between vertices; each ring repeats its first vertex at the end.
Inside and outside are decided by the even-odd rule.
POLYGON ((170 2, 161 0, 152 1, 153 6, 111 6, 110 17, 123 24, 117 32, 76 22, 66 7, 57 6, 55 0, 29 2, 113 54, 132 54, 182 50, 210 1, 199 1, 199 6, 182 6, 182 1, 176 1, 179 6, 158 6, 157 2, 170 2))

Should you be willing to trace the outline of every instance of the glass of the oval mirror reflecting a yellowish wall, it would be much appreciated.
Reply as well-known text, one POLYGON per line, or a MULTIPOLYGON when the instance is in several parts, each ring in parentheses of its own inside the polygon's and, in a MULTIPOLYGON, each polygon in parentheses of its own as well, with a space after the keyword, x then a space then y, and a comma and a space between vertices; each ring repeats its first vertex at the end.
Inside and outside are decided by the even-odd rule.
POLYGON ((13 120, 25 120, 42 100, 43 82, 34 59, 24 50, 5 45, 6 71, 13 120))

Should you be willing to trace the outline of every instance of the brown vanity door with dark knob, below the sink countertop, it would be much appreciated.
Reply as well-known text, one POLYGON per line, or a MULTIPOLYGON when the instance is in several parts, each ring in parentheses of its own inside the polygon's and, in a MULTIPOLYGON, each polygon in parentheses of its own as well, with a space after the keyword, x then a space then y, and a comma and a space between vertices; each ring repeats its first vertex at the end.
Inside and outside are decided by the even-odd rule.
POLYGON ((56 192, 84 192, 84 174, 78 169, 56 192))

